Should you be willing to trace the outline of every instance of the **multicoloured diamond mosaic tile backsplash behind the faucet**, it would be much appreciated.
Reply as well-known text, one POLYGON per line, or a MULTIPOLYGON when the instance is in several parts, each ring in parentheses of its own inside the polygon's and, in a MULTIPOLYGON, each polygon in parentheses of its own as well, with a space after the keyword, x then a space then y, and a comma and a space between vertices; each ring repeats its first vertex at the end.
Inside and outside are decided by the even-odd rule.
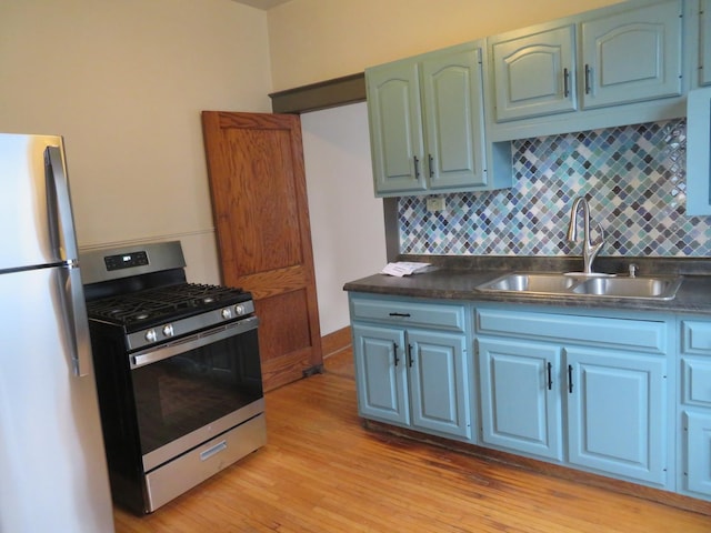
POLYGON ((711 257, 711 217, 684 214, 685 133, 674 120, 514 141, 511 189, 444 194, 435 213, 428 197, 400 198, 400 252, 580 255, 567 231, 583 195, 601 255, 711 257))

